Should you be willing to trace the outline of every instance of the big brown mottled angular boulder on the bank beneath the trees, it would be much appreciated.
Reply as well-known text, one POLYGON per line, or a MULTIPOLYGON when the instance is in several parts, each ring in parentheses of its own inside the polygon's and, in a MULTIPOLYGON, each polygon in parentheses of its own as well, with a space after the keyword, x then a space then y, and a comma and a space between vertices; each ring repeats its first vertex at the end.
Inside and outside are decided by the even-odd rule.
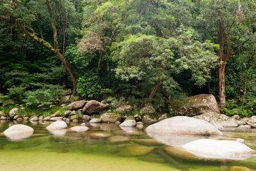
POLYGON ((184 100, 173 100, 168 108, 172 115, 194 116, 206 112, 220 113, 218 103, 211 94, 198 94, 184 98, 184 100))

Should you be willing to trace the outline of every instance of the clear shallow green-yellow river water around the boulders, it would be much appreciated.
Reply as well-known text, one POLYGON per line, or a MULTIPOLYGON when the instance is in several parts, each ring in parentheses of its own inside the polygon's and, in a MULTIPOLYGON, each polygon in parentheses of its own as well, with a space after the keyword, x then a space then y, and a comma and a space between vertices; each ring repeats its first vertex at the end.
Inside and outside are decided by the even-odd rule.
MULTIPOLYGON (((3 132, 13 123, 0 123, 3 132)), ((244 166, 256 170, 256 157, 244 161, 187 161, 169 156, 164 144, 138 144, 136 140, 149 138, 144 131, 127 133, 115 124, 90 126, 84 133, 67 131, 53 135, 45 130, 47 124, 31 124, 35 133, 20 141, 0 136, 0 170, 230 170, 232 166, 244 166), (111 144, 108 138, 93 138, 90 133, 109 133, 130 139, 122 144, 111 144), (146 151, 146 152, 145 152, 146 151), (150 152, 148 152, 150 151, 150 152), (144 154, 145 153, 145 154, 144 154)), ((70 125, 74 126, 74 125, 70 125)), ((69 126, 69 127, 70 127, 69 126)), ((88 125, 89 126, 89 125, 88 125)), ((256 131, 223 131, 222 138, 244 138, 246 145, 256 149, 256 131)))

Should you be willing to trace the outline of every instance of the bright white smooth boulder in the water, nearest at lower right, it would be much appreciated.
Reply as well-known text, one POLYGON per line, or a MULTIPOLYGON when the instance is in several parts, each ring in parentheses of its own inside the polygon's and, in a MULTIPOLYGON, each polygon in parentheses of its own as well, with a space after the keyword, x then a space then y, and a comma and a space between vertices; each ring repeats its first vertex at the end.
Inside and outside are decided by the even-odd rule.
POLYGON ((195 140, 182 148, 199 158, 218 160, 241 160, 253 152, 250 147, 232 140, 195 140))

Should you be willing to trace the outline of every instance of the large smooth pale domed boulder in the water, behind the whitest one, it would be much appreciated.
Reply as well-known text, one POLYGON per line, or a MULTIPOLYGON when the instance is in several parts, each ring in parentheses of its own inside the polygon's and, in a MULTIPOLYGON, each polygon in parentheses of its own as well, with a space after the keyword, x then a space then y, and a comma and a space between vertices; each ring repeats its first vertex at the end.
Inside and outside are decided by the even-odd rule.
POLYGON ((146 128, 147 133, 175 133, 181 135, 223 135, 221 131, 201 119, 176 116, 164 119, 146 128))

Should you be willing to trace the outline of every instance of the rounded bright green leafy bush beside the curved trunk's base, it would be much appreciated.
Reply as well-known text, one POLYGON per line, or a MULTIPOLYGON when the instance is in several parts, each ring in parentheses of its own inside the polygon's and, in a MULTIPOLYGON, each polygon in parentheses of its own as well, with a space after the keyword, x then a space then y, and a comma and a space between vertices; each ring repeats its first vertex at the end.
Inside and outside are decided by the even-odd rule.
POLYGON ((77 93, 83 98, 99 98, 102 88, 100 78, 95 73, 85 73, 77 80, 77 93))

